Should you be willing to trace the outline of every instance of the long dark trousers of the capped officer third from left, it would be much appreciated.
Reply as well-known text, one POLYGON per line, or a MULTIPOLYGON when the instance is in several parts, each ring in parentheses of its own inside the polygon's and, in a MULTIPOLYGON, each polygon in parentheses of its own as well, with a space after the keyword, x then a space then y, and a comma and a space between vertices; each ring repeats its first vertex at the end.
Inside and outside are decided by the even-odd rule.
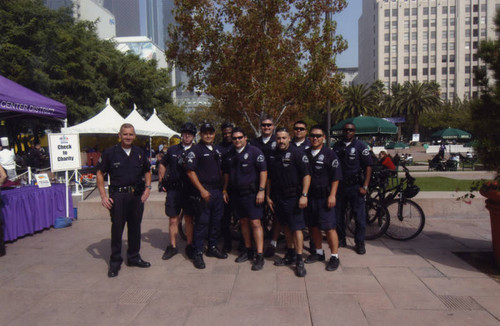
POLYGON ((215 246, 219 234, 222 215, 224 214, 224 199, 219 189, 210 191, 210 201, 204 205, 201 214, 195 217, 193 248, 195 253, 203 251, 203 241, 208 231, 208 246, 215 246))

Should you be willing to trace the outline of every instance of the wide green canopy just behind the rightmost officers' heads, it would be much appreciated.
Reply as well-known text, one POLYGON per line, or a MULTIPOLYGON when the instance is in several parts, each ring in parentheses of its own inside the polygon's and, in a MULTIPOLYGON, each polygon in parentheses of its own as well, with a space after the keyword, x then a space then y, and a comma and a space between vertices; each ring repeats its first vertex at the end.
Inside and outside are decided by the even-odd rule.
POLYGON ((346 123, 352 123, 356 126, 356 135, 395 135, 398 133, 398 127, 382 118, 358 116, 340 121, 334 125, 330 131, 333 136, 342 134, 342 128, 346 123))

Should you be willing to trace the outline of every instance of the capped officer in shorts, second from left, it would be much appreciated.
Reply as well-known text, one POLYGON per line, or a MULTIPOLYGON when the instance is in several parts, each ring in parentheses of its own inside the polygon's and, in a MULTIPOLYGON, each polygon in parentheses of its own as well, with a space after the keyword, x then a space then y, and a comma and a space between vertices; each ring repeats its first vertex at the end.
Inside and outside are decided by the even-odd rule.
MULTIPOLYGON (((191 122, 186 122, 181 126, 181 142, 167 150, 167 154, 160 161, 158 169, 158 179, 160 180, 160 190, 167 191, 165 201, 165 214, 169 216, 168 231, 170 234, 170 244, 165 249, 163 260, 172 258, 177 254, 176 236, 179 233, 179 214, 186 206, 186 185, 189 183, 184 169, 185 156, 193 145, 196 135, 196 126, 191 122)), ((186 226, 186 255, 193 256, 193 219, 188 214, 184 214, 186 226)))

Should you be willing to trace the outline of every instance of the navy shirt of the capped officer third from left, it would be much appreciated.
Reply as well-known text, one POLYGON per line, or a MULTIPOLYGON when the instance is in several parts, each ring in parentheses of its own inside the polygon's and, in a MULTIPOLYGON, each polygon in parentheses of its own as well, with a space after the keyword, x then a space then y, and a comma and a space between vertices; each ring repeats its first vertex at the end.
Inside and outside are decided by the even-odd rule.
POLYGON ((186 156, 186 170, 194 171, 203 185, 222 186, 222 157, 215 145, 210 150, 207 145, 193 145, 186 156))

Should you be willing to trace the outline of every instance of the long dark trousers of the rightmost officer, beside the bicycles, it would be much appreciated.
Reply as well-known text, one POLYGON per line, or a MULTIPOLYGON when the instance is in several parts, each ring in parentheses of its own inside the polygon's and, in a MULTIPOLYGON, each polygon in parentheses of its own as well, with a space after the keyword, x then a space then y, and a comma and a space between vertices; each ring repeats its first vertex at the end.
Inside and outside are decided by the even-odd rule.
POLYGON ((339 240, 344 240, 346 236, 345 213, 347 203, 351 206, 352 213, 356 216, 356 234, 354 240, 356 243, 365 241, 366 231, 366 208, 365 196, 359 193, 360 185, 344 186, 341 185, 337 191, 337 204, 335 206, 337 215, 337 233, 339 240))

